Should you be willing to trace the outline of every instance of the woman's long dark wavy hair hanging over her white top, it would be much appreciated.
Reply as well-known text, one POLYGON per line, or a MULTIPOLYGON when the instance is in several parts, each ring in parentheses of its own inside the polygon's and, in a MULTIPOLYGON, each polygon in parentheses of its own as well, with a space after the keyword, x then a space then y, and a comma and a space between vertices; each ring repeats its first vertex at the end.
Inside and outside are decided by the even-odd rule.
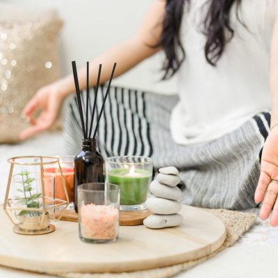
MULTIPOLYGON (((203 32, 207 38, 204 54, 207 62, 212 66, 216 65, 227 42, 234 37, 234 29, 230 24, 230 12, 231 8, 236 4, 236 16, 238 17, 240 2, 241 0, 208 0, 206 3, 209 7, 208 13, 204 18, 203 32)), ((190 0, 166 1, 161 40, 156 45, 156 47, 162 47, 165 51, 163 80, 172 77, 186 58, 186 52, 183 49, 180 38, 181 22, 185 8, 190 8, 190 0)))

